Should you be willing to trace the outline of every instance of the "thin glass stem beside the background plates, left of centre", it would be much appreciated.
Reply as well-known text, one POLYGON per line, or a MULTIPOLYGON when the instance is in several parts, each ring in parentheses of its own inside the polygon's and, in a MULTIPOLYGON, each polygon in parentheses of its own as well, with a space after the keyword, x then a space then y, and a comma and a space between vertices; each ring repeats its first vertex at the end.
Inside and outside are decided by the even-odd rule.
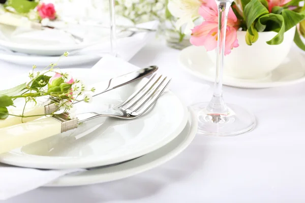
POLYGON ((115 0, 109 0, 109 14, 110 14, 110 54, 116 56, 116 25, 115 25, 115 0))

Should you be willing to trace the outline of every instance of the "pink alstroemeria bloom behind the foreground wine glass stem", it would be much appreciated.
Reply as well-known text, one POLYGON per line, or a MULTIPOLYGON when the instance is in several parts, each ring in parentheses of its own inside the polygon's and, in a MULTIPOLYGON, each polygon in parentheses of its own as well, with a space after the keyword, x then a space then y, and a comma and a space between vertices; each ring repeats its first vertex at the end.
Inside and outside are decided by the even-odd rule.
MULTIPOLYGON (((199 14, 205 21, 192 29, 190 42, 195 46, 204 46, 207 51, 217 47, 218 37, 218 8, 214 0, 207 0, 199 9, 199 14)), ((232 8, 229 10, 225 55, 231 53, 231 49, 238 47, 236 26, 238 24, 232 8)))

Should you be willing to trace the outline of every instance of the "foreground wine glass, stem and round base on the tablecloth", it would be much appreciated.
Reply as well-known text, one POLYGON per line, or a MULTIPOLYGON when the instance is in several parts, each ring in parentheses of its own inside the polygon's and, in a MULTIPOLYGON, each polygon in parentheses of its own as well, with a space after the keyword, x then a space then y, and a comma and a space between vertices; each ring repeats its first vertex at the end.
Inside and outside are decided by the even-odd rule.
POLYGON ((237 136, 252 130, 256 119, 238 105, 226 104, 222 94, 227 19, 233 0, 215 0, 218 6, 218 42, 214 94, 209 103, 193 106, 198 112, 198 133, 207 136, 237 136))

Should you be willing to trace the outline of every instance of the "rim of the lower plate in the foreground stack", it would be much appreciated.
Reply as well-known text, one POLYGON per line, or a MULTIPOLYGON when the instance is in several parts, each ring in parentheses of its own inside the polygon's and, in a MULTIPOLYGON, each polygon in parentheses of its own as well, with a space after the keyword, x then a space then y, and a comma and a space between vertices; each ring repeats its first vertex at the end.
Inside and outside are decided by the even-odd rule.
MULTIPOLYGON (((148 163, 134 166, 133 168, 124 168, 124 170, 121 170, 120 172, 116 171, 115 173, 111 174, 112 177, 110 177, 110 178, 105 178, 105 175, 91 175, 91 176, 84 176, 84 177, 79 177, 79 176, 77 176, 77 174, 76 175, 67 175, 67 176, 59 177, 57 180, 55 180, 47 185, 44 185, 43 187, 67 187, 67 186, 82 186, 82 185, 106 183, 106 182, 116 181, 116 180, 131 177, 131 176, 135 176, 137 174, 143 173, 145 171, 149 171, 155 167, 158 167, 158 166, 166 163, 167 161, 173 159, 174 157, 179 155, 181 152, 183 152, 187 147, 189 147, 189 145, 192 143, 192 141, 196 137, 197 128, 198 128, 198 121, 197 121, 196 113, 191 108, 188 108, 188 110, 189 110, 188 122, 191 121, 191 126, 190 126, 190 131, 189 131, 188 135, 186 136, 187 139, 185 139, 183 142, 180 142, 178 147, 175 147, 174 150, 167 152, 165 155, 162 155, 161 157, 156 158, 153 161, 149 161, 148 163)), ((181 132, 178 136, 181 136, 181 132)), ((166 145, 164 145, 163 147, 166 147, 166 145)), ((151 153, 154 153, 154 152, 151 152, 151 153)), ((133 161, 133 160, 131 160, 131 161, 133 161)), ((129 162, 131 162, 131 161, 129 161, 129 162)), ((125 163, 121 163, 119 165, 122 165, 122 164, 125 164, 125 163)), ((117 165, 110 166, 110 167, 117 167, 117 165)), ((95 170, 103 170, 103 168, 102 169, 97 168, 95 170)), ((86 173, 86 171, 79 172, 79 173, 86 173)))

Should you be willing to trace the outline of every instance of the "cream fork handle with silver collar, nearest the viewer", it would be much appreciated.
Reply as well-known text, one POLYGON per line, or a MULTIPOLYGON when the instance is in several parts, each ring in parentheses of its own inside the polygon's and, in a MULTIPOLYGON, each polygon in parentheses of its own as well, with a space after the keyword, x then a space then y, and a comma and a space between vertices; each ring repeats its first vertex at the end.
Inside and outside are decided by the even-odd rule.
POLYGON ((43 117, 0 129, 0 154, 77 127, 77 119, 43 117))

